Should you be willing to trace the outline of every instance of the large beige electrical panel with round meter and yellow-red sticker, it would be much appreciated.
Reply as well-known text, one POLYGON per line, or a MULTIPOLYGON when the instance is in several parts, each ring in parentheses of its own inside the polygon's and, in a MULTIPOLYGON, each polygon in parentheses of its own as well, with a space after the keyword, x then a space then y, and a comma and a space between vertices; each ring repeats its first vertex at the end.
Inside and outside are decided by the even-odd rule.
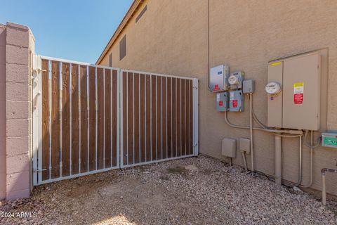
POLYGON ((320 80, 317 52, 271 62, 265 87, 268 127, 318 130, 320 80))

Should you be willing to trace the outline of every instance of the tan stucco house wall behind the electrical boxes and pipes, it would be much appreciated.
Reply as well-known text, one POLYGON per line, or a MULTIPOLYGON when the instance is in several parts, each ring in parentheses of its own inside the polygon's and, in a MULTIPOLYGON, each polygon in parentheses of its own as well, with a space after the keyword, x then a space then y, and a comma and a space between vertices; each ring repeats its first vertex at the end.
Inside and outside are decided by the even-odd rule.
MULTIPOLYGON (((138 23, 132 18, 110 49, 117 68, 197 77, 199 84, 199 150, 220 155, 224 137, 249 137, 249 131, 228 127, 215 110, 215 94, 207 89, 207 1, 148 0, 138 23), (126 34, 126 57, 119 61, 119 40, 126 34)), ((143 8, 140 7, 140 10, 143 8)), ((227 63, 256 80, 253 106, 267 121, 267 63, 298 53, 328 48, 327 129, 337 129, 337 4, 334 1, 209 1, 209 65, 227 63)), ((139 12, 138 12, 139 13, 139 12)), ((136 13, 136 15, 138 15, 136 13)), ((109 52, 109 53, 110 53, 109 52)), ((109 54, 108 53, 108 54, 109 54)), ((108 65, 108 54, 101 64, 108 65)), ((245 108, 248 109, 248 101, 245 108)), ((249 112, 230 113, 231 122, 249 124, 249 112)), ((274 174, 272 134, 254 131, 256 169, 274 174)), ((250 156, 247 160, 250 162, 250 156)), ((298 177, 298 141, 283 141, 283 175, 298 177)), ((314 184, 321 188, 320 169, 336 168, 337 150, 316 148, 314 184)), ((238 152, 234 164, 242 165, 238 152)), ((250 166, 250 164, 249 164, 250 166)), ((303 184, 309 180, 309 149, 303 147, 303 184)), ((337 176, 327 175, 327 191, 337 195, 337 176)))

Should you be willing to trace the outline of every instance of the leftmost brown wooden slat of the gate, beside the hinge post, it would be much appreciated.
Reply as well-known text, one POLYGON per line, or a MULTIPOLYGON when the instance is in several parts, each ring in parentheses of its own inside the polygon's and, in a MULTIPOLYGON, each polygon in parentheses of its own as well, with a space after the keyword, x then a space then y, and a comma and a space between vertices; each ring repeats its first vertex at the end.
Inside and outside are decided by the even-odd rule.
POLYGON ((42 180, 49 179, 49 75, 48 60, 42 60, 42 180))

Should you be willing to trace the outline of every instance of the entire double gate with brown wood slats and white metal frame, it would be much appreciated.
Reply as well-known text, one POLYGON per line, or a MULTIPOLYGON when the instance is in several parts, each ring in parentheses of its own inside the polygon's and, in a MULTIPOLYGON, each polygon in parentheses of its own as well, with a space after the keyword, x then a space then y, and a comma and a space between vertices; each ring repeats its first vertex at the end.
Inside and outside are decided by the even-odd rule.
POLYGON ((35 56, 33 184, 198 154, 198 80, 35 56))

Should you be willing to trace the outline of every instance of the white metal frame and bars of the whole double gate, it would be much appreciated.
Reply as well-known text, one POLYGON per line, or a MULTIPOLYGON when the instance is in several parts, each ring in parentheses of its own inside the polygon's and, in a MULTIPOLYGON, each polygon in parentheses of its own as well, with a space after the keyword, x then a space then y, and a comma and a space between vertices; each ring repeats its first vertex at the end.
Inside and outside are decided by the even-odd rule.
MULTIPOLYGON (((105 76, 105 72, 103 72, 105 76)), ((71 76, 70 76, 71 77, 71 76)), ((33 169, 33 185, 41 185, 41 184, 47 184, 51 183, 54 181, 61 181, 64 179, 72 179, 75 177, 79 176, 85 176, 88 174, 95 174, 98 172, 105 172, 109 171, 112 169, 119 169, 119 168, 125 168, 125 167, 133 167, 133 166, 138 166, 138 165, 145 165, 145 164, 150 164, 154 162, 163 162, 167 160, 176 160, 180 158, 187 158, 191 157, 193 155, 198 155, 199 154, 199 79, 196 78, 191 78, 191 77, 179 77, 179 76, 172 76, 172 75, 161 75, 157 73, 150 73, 150 72, 142 72, 142 71, 135 71, 135 70, 120 70, 119 68, 112 68, 112 67, 107 67, 103 65, 93 65, 91 63, 83 63, 83 62, 77 62, 74 60, 65 60, 62 58, 53 58, 53 57, 48 57, 48 56, 39 56, 39 55, 34 55, 33 59, 33 158, 32 158, 32 169, 33 169), (71 70, 72 70, 72 64, 77 64, 79 65, 79 68, 81 65, 84 65, 87 67, 87 74, 86 74, 86 79, 87 79, 87 98, 89 95, 88 92, 88 68, 94 67, 95 68, 95 87, 96 87, 96 92, 97 92, 97 68, 103 68, 103 69, 108 69, 108 70, 117 70, 117 165, 115 167, 109 167, 105 169, 95 169, 93 171, 89 172, 81 172, 81 162, 79 162, 79 173, 78 174, 71 174, 70 170, 70 176, 62 176, 62 155, 61 155, 61 162, 60 162, 60 177, 55 178, 55 179, 46 179, 42 181, 42 172, 46 169, 42 168, 42 59, 48 60, 48 91, 49 91, 49 98, 51 98, 51 61, 58 61, 60 62, 60 66, 62 66, 62 63, 69 63, 70 64, 70 75, 71 75, 71 70), (182 155, 179 157, 175 158, 166 158, 166 159, 161 159, 161 160, 151 160, 148 162, 140 162, 132 165, 123 165, 123 79, 121 79, 122 72, 137 72, 141 74, 146 74, 146 75, 156 75, 156 76, 161 76, 161 77, 171 77, 171 78, 180 78, 180 79, 190 79, 192 80, 192 98, 193 98, 193 133, 192 133, 192 147, 193 147, 193 153, 192 155, 182 155)), ((70 78, 71 81, 71 78, 70 78)), ((79 69, 79 82, 80 82, 80 69, 79 69)), ((79 83, 80 84, 80 83, 79 83)), ((60 67, 60 90, 62 90, 62 67, 60 67)), ((72 91, 72 89, 70 89, 72 91)), ((79 104, 81 103, 81 86, 79 85, 79 104)), ((167 90, 166 90, 167 91, 167 90)), ((95 117, 97 119, 97 113, 98 113, 98 108, 97 108, 97 93, 95 94, 95 117)), ((70 101, 71 100, 71 94, 70 94, 70 101)), ((88 105, 89 105, 89 99, 87 99, 88 105)), ((105 102, 105 97, 104 97, 104 102, 105 102)), ((60 105, 62 105, 62 94, 60 94, 60 105)), ((88 110, 89 107, 87 107, 88 110)), ((104 108, 105 108, 105 103, 104 103, 104 108)), ((51 151, 51 99, 49 99, 49 152, 51 151)), ((70 106, 70 118, 72 115, 72 108, 70 106)), ((112 112, 111 112, 112 113, 112 112)), ((88 119, 90 115, 88 112, 88 119)), ((105 118, 105 110, 104 110, 104 118, 105 118)), ((81 120, 81 108, 79 108, 79 120, 81 120)), ((89 120, 88 120, 89 121, 89 120)), ((81 126, 81 122, 79 122, 79 126, 81 126)), ((60 129, 62 132, 62 107, 60 108, 60 129)), ((70 135, 72 134, 72 122, 70 120, 70 135)), ((81 132, 81 128, 79 129, 79 132, 81 132)), ((88 132, 89 132, 89 126, 88 126, 88 132)), ((96 129, 95 129, 96 135, 95 135, 95 151, 96 151, 96 157, 97 157, 97 120, 96 120, 96 129)), ((105 129, 104 129, 105 132, 105 129)), ((60 133, 60 141, 62 141, 62 133, 60 133)), ((81 134, 81 133, 79 133, 81 134)), ((79 141, 81 141, 81 135, 79 135, 79 141)), ((88 136, 88 141, 89 141, 89 136, 88 136)), ((103 141, 105 144, 105 141, 103 141)), ((70 139, 70 145, 72 141, 70 139)), ((62 142, 60 145, 60 148, 62 148, 62 142)), ((70 155, 71 155, 71 146, 70 146, 70 155)), ((105 151, 104 151, 105 152, 105 151)), ((62 154, 62 149, 61 149, 61 154, 62 154)), ((51 154, 49 154, 49 160, 51 160, 51 154)), ((81 144, 79 144, 79 159, 81 159, 81 144)), ((89 160, 89 158, 88 158, 89 160)), ((146 160, 146 159, 145 159, 146 160)), ((105 161, 105 160, 104 160, 105 161)), ((71 167, 72 160, 70 160, 70 168, 71 167)), ((89 165, 89 164, 88 164, 89 165)), ((97 160, 96 160, 96 168, 97 168, 97 160)), ((51 170, 51 163, 49 163, 49 170, 51 170)), ((49 176, 51 176, 51 172, 49 172, 49 176)))

